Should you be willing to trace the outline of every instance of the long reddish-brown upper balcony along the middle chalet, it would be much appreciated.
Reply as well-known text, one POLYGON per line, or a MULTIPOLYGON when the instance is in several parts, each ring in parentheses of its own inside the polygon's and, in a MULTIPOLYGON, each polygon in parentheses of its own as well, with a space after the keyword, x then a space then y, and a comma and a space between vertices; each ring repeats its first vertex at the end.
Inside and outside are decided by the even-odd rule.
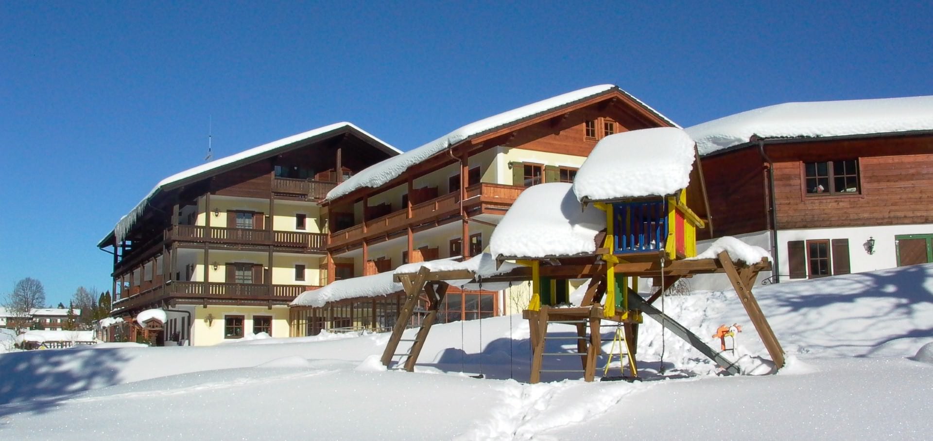
MULTIPOLYGON (((476 207, 497 206, 506 209, 515 202, 515 198, 524 190, 524 187, 511 185, 480 183, 466 188, 464 207, 467 210, 476 207)), ((400 209, 383 217, 368 220, 343 229, 330 235, 328 248, 345 247, 364 238, 388 235, 408 227, 417 227, 436 220, 443 220, 460 213, 460 193, 453 192, 438 196, 434 199, 411 206, 411 217, 408 209, 400 209)))

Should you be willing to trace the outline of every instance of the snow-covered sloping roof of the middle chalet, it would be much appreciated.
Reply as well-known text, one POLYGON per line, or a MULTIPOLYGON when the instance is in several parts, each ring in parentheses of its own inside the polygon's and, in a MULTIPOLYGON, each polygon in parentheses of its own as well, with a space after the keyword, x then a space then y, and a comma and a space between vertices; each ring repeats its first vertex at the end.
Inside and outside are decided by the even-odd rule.
POLYGON ((431 156, 439 153, 440 151, 448 149, 470 137, 481 135, 496 128, 506 126, 517 121, 522 121, 524 119, 531 118, 560 107, 568 106, 578 101, 585 100, 613 90, 625 93, 627 96, 632 97, 632 99, 639 105, 647 108, 662 120, 667 121, 672 125, 676 125, 674 121, 668 120, 666 117, 661 115, 661 113, 658 113, 658 111, 648 107, 645 105, 645 103, 634 98, 629 93, 621 91, 613 84, 592 86, 580 89, 578 91, 567 92, 553 96, 548 99, 529 104, 527 106, 514 108, 506 112, 502 112, 498 115, 484 118, 480 121, 470 122, 469 124, 466 124, 465 126, 460 127, 447 135, 440 136, 438 139, 435 139, 421 147, 411 149, 401 155, 388 158, 381 163, 370 165, 365 170, 343 181, 343 183, 328 192, 327 199, 336 199, 363 187, 379 187, 394 178, 398 178, 412 165, 419 164, 425 161, 427 158, 430 158, 431 156))

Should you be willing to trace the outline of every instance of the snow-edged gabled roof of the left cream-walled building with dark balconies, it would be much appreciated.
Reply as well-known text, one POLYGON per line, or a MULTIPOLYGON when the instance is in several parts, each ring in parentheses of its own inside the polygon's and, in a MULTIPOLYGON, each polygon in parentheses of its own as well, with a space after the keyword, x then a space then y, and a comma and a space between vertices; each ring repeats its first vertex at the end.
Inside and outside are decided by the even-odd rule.
POLYGON ((139 204, 136 204, 136 206, 133 207, 132 210, 130 210, 128 214, 126 214, 125 216, 120 218, 120 220, 118 220, 117 225, 114 226, 113 232, 105 235, 101 239, 101 243, 104 243, 104 241, 107 240, 107 237, 109 237, 111 234, 115 235, 117 237, 117 240, 121 240, 130 231, 133 223, 135 223, 135 221, 139 219, 140 216, 143 215, 143 210, 146 208, 146 203, 149 201, 149 199, 151 199, 152 196, 155 196, 157 192, 160 192, 166 187, 170 187, 175 182, 181 181, 183 179, 198 177, 199 175, 207 175, 210 172, 224 165, 248 160, 255 156, 268 153, 271 150, 283 148, 285 146, 288 146, 289 144, 294 144, 296 142, 300 142, 300 141, 303 141, 305 139, 308 139, 314 136, 327 135, 330 132, 335 132, 335 131, 346 129, 346 128, 353 129, 359 132, 361 135, 365 135, 369 137, 373 142, 379 145, 382 145, 386 150, 389 150, 395 153, 401 153, 401 150, 396 149, 395 147, 392 147, 389 144, 386 144, 382 139, 379 139, 376 136, 370 135, 365 130, 357 127, 354 123, 346 122, 346 121, 337 122, 334 124, 326 125, 324 127, 318 127, 316 129, 309 130, 304 133, 300 133, 298 135, 291 135, 288 137, 284 137, 277 141, 272 141, 270 143, 266 143, 261 146, 254 147, 252 149, 246 149, 239 153, 235 153, 230 156, 220 158, 215 161, 211 161, 210 163, 201 164, 195 167, 188 168, 188 170, 185 170, 180 173, 176 173, 168 178, 164 178, 160 180, 159 183, 156 184, 156 186, 152 188, 152 190, 146 193, 146 197, 144 197, 142 201, 139 201, 139 204))

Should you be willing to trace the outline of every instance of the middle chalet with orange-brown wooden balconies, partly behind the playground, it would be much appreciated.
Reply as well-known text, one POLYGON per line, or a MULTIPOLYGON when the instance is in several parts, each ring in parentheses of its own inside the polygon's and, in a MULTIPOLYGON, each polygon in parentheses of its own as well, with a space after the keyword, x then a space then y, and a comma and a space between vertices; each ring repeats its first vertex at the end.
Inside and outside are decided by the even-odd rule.
MULTIPOLYGON (((525 188, 572 182, 607 135, 670 126, 618 87, 595 86, 472 122, 389 158, 328 195, 327 281, 480 254, 525 188)), ((446 298, 443 317, 471 318, 466 306, 473 304, 475 317, 505 312, 495 292, 452 288, 446 298)))

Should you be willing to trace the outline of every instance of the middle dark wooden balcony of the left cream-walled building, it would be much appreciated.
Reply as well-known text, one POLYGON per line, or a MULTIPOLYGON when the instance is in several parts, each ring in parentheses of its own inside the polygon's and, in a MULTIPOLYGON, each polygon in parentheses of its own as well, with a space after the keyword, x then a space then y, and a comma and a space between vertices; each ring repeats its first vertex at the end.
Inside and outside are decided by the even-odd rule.
POLYGON ((288 249, 324 251, 327 235, 290 231, 253 230, 246 228, 203 227, 200 225, 178 225, 168 230, 170 240, 208 242, 216 244, 272 245, 288 249))

